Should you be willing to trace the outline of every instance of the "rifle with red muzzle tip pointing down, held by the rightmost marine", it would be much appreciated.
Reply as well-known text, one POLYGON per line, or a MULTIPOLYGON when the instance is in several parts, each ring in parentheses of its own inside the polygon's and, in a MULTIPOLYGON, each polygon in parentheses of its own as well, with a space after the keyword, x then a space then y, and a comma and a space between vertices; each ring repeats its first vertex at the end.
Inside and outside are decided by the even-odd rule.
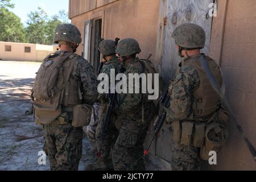
MULTIPOLYGON (((170 100, 171 97, 168 96, 168 89, 164 92, 163 96, 159 100, 159 104, 163 104, 164 107, 170 107, 170 100)), ((158 118, 158 121, 156 121, 156 125, 154 128, 154 133, 150 139, 150 143, 148 144, 148 147, 146 150, 144 150, 144 155, 142 156, 143 159, 146 159, 146 156, 148 155, 148 152, 150 150, 150 147, 152 145, 152 142, 154 141, 155 137, 158 135, 160 129, 162 129, 164 121, 166 120, 167 112, 163 109, 162 114, 158 118)))

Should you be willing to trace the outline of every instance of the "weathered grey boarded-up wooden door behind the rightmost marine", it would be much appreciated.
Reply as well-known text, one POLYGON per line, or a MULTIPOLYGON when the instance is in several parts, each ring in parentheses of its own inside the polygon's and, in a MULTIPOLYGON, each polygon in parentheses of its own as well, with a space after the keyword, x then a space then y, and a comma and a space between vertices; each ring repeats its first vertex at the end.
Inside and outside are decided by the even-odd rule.
MULTIPOLYGON (((209 16, 209 5, 213 0, 167 0, 163 2, 162 7, 166 9, 167 22, 163 30, 163 53, 159 71, 164 78, 164 82, 168 84, 168 81, 174 78, 175 71, 181 61, 181 58, 177 55, 175 41, 171 39, 172 32, 177 26, 182 23, 196 23, 203 27, 207 35, 203 52, 209 55, 212 27, 212 17, 209 16)), ((170 126, 164 125, 156 141, 156 155, 170 162, 172 158, 171 148, 172 133, 170 126)))

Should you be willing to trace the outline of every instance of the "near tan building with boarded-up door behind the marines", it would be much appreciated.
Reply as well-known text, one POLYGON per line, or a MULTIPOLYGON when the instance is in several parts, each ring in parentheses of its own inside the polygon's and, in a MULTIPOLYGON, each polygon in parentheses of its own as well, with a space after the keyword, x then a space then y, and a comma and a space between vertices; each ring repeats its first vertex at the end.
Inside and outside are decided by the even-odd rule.
MULTIPOLYGON (((135 38, 141 45, 141 58, 153 54, 152 61, 164 81, 174 77, 180 63, 175 27, 191 22, 207 34, 203 49, 220 64, 224 72, 226 96, 238 122, 256 147, 256 2, 231 0, 69 0, 69 18, 79 27, 82 44, 77 53, 97 70, 101 59, 100 38, 135 38), (215 14, 213 14, 214 4, 215 14), (216 14, 217 13, 217 14, 216 14), (217 15, 217 16, 212 16, 217 15)), ((152 128, 152 125, 151 125, 152 128)), ((256 169, 256 163, 236 125, 230 122, 230 137, 218 154, 219 170, 256 169)), ((151 154, 170 169, 172 133, 164 125, 151 154)), ((163 165, 164 166, 164 165, 163 165)))

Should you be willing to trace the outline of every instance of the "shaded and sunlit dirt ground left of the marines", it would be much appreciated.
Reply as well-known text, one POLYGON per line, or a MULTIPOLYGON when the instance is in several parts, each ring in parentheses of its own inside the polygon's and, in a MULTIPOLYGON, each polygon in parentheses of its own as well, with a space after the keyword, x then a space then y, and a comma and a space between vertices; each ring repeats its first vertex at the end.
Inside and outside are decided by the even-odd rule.
MULTIPOLYGON (((30 90, 40 63, 0 61, 0 171, 47 171, 38 164, 43 148, 43 131, 35 125, 30 109, 30 90)), ((79 170, 97 160, 84 134, 83 155, 79 170)), ((158 164, 146 160, 147 170, 158 170, 158 164)))

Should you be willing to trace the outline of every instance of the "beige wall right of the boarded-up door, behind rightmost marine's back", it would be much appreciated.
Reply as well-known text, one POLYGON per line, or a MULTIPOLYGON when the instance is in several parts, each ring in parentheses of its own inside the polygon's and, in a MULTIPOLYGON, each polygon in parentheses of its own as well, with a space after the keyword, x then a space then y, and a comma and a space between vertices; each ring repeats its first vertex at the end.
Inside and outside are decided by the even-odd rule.
MULTIPOLYGON (((219 13, 213 22, 212 56, 220 61, 226 96, 237 121, 256 147, 256 1, 224 0, 219 13)), ((236 125, 231 122, 229 127, 230 137, 218 155, 217 169, 256 170, 236 125)))

